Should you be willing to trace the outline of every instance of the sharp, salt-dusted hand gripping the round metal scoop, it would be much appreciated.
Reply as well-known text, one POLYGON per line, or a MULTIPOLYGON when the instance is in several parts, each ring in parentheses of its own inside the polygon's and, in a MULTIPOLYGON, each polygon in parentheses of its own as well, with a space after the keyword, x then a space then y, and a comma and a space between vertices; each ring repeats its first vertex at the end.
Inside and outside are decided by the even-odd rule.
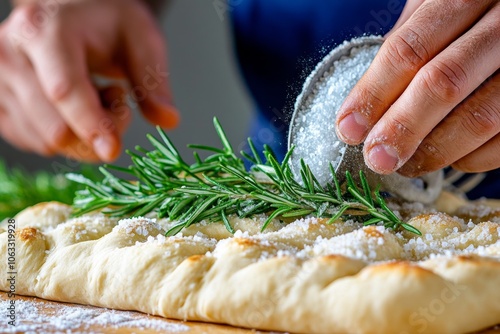
POLYGON ((500 167, 500 1, 410 0, 337 115, 375 172, 500 167))

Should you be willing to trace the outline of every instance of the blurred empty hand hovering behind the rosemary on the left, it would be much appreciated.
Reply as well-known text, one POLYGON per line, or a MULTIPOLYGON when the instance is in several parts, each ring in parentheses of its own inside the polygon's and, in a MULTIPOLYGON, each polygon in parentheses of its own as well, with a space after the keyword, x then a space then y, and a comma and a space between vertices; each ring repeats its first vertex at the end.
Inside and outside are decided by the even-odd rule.
POLYGON ((125 79, 154 124, 178 122, 164 41, 140 0, 20 3, 0 25, 0 134, 43 155, 110 161, 130 121, 123 87, 99 90, 92 76, 125 79))

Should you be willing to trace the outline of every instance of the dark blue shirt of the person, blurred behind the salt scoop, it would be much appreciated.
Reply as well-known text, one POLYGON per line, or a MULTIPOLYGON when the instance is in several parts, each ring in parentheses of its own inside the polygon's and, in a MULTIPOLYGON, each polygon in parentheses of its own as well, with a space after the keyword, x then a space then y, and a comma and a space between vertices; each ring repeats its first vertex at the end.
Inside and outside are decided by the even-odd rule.
MULTIPOLYGON (((283 157, 293 104, 307 75, 343 41, 388 32, 404 5, 404 0, 229 1, 235 51, 257 109, 250 137, 259 151, 267 144, 283 157)), ((489 187, 476 187, 469 197, 500 197, 498 171, 488 173, 484 183, 489 187)))

